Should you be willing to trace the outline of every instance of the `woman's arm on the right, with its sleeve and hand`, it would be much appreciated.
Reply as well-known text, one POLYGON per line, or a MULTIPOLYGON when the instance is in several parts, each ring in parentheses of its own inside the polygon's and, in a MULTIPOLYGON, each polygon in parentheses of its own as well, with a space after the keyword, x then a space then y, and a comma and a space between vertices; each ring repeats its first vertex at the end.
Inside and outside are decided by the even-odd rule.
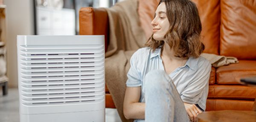
POLYGON ((208 60, 206 60, 205 58, 201 58, 201 62, 198 62, 198 69, 194 75, 195 78, 193 79, 191 84, 186 86, 186 89, 181 95, 181 99, 184 102, 190 121, 196 122, 197 115, 199 113, 202 113, 202 111, 195 104, 197 104, 197 102, 200 98, 203 97, 203 95, 205 95, 204 98, 207 98, 209 77, 212 69, 211 67, 212 65, 208 60), (202 92, 205 92, 207 94, 203 94, 202 92))

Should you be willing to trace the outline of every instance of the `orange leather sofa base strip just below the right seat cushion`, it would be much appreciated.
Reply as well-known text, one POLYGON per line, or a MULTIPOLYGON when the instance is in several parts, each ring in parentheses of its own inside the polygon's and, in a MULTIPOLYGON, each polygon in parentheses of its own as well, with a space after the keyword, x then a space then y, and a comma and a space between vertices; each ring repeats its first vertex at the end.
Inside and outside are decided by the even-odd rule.
POLYGON ((209 85, 210 99, 248 99, 254 100, 256 88, 245 85, 209 85))

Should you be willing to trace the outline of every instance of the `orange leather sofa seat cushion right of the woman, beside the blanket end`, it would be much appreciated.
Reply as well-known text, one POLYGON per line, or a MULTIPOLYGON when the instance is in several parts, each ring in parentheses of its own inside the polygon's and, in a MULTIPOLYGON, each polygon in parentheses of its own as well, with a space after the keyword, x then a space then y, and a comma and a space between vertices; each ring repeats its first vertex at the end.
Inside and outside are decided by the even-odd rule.
POLYGON ((240 78, 253 76, 256 76, 256 60, 239 60, 237 64, 216 69, 217 84, 239 84, 240 78))

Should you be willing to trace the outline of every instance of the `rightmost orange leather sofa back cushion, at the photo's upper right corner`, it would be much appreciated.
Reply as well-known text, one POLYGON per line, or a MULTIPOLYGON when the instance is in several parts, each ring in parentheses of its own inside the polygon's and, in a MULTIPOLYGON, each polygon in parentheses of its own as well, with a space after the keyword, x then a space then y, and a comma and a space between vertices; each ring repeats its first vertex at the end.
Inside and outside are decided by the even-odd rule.
POLYGON ((256 59, 255 6, 256 0, 221 0, 221 55, 256 59))

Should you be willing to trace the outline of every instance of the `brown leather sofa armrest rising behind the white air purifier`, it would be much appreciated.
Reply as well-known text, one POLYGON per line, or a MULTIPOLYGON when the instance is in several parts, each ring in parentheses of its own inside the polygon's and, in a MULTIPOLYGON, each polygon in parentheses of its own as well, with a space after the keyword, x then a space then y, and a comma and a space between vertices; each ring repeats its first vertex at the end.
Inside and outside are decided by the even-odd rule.
POLYGON ((107 51, 109 43, 107 11, 104 8, 81 8, 79 11, 79 35, 105 35, 105 51, 107 51))

